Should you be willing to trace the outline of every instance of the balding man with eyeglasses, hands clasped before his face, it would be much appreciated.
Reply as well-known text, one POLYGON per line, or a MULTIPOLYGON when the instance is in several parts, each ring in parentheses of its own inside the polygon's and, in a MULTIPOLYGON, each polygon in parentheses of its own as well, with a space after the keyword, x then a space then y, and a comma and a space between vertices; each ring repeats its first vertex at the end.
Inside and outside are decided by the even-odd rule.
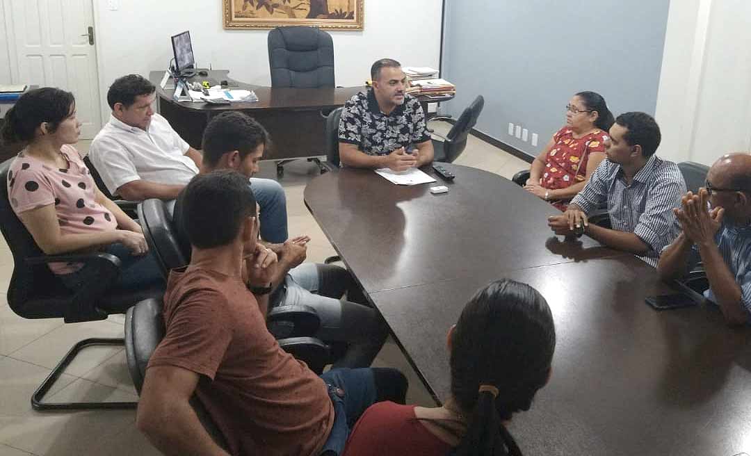
POLYGON ((728 325, 751 318, 751 156, 733 153, 717 160, 698 195, 686 193, 675 210, 683 232, 662 252, 663 280, 686 275, 701 260, 710 288, 728 325))

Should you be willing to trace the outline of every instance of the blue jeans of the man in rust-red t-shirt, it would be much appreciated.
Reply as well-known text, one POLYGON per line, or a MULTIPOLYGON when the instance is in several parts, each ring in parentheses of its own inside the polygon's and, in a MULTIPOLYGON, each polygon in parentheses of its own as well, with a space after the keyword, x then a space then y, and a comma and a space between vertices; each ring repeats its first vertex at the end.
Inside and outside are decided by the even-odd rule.
POLYGON ((334 418, 329 437, 321 450, 326 456, 344 451, 352 427, 378 397, 372 369, 332 369, 321 374, 328 386, 334 418))

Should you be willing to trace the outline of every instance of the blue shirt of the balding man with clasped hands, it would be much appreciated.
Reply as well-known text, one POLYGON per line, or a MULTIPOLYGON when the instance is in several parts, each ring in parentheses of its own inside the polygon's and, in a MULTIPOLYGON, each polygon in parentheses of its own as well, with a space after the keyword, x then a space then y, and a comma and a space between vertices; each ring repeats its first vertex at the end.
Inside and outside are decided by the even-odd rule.
MULTIPOLYGON (((725 222, 715 234, 714 240, 722 259, 740 286, 740 305, 749 314, 751 322, 751 227, 737 227, 725 222)), ((700 260, 698 246, 694 245, 689 264, 697 264, 700 260)), ((717 302, 712 288, 707 290, 707 299, 717 302)))

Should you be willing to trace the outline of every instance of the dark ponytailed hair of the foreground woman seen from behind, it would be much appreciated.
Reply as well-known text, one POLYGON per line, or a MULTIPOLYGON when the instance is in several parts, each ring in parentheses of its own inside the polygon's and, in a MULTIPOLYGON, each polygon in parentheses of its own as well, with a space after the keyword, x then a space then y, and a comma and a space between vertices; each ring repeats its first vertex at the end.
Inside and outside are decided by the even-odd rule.
POLYGON ((502 279, 469 300, 451 337, 451 394, 468 415, 455 456, 521 456, 503 421, 550 376, 556 334, 544 297, 502 279))

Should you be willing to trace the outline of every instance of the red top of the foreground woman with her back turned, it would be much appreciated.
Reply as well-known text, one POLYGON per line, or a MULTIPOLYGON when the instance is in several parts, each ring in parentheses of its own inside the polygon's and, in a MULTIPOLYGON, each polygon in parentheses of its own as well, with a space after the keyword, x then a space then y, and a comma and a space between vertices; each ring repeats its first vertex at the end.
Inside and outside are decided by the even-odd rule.
POLYGON ((415 418, 415 406, 375 403, 363 413, 342 456, 445 456, 451 445, 415 418))

